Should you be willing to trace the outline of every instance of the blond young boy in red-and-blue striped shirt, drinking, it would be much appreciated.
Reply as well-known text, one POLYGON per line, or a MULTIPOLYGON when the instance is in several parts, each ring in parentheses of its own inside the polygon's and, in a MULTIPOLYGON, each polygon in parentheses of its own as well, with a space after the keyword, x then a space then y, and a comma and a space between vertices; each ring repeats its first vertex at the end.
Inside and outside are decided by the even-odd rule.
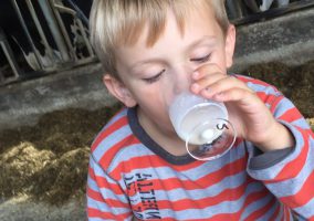
POLYGON ((94 0, 104 84, 126 108, 92 145, 90 220, 314 220, 314 140, 273 86, 228 75, 236 42, 221 0, 94 0), (180 86, 223 102, 238 138, 222 157, 186 152, 168 116, 180 86))

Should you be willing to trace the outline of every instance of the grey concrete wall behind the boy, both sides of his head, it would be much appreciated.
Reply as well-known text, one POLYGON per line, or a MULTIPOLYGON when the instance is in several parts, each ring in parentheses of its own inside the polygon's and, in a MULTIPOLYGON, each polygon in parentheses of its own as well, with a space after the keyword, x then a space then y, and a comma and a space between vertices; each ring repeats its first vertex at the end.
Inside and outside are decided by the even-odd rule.
MULTIPOLYGON (((314 57, 314 9, 238 27, 231 71, 280 61, 299 65, 314 57)), ((0 129, 32 125, 44 113, 69 107, 95 109, 115 103, 102 84, 102 69, 92 63, 0 87, 0 129)))

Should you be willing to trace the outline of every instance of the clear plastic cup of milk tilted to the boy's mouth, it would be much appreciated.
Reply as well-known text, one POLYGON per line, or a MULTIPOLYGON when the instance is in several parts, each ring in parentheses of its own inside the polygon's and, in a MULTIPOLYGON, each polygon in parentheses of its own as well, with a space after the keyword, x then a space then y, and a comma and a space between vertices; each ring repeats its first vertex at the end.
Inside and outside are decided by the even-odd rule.
POLYGON ((236 140, 223 103, 182 92, 171 102, 169 117, 188 154, 198 160, 224 155, 236 140))

